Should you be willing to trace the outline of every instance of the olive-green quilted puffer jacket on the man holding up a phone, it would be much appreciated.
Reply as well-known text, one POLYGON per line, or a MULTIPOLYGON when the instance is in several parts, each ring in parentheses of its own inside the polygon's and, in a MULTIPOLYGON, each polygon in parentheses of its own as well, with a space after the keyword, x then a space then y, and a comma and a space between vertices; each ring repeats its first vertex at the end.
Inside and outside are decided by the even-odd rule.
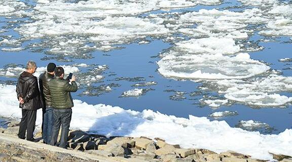
POLYGON ((57 76, 48 82, 53 108, 66 109, 74 106, 70 92, 76 92, 78 87, 74 81, 71 84, 69 80, 57 76))

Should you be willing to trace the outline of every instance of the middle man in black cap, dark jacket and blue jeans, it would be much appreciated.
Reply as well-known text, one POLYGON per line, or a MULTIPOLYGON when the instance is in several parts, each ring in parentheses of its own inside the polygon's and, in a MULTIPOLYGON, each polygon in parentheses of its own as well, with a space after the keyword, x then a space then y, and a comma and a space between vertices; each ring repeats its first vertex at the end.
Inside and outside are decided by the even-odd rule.
POLYGON ((42 101, 44 105, 42 133, 43 133, 44 143, 47 143, 47 144, 50 143, 50 140, 52 137, 53 124, 54 124, 52 97, 49 90, 48 82, 51 79, 54 79, 55 68, 56 68, 56 64, 49 63, 47 66, 47 71, 42 73, 39 77, 41 97, 42 97, 42 101))

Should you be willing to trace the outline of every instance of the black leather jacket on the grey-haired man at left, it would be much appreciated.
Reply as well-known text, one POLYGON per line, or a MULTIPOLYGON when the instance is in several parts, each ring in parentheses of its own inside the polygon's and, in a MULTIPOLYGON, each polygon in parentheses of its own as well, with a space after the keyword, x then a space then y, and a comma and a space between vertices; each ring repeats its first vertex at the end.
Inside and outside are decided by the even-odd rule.
POLYGON ((25 110, 37 110, 42 106, 38 79, 29 72, 22 72, 16 86, 17 99, 22 97, 23 104, 19 107, 25 110))

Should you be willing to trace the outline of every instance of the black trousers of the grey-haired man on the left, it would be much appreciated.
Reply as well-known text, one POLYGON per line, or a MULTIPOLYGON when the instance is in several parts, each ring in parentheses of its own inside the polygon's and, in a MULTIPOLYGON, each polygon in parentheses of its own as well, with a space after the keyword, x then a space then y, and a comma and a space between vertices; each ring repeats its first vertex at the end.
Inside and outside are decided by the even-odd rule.
POLYGON ((26 131, 26 139, 31 140, 33 138, 33 131, 35 127, 36 110, 24 110, 22 109, 22 117, 19 125, 18 137, 24 139, 26 131))

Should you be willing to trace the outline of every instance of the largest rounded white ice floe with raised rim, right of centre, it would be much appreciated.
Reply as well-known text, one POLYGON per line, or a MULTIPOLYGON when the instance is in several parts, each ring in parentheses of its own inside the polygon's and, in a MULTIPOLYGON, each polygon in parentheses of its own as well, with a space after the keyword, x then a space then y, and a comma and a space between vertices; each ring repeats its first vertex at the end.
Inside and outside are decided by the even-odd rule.
POLYGON ((158 71, 165 77, 191 79, 248 78, 270 69, 265 64, 252 60, 246 53, 235 57, 216 55, 180 55, 175 52, 158 61, 158 71))

